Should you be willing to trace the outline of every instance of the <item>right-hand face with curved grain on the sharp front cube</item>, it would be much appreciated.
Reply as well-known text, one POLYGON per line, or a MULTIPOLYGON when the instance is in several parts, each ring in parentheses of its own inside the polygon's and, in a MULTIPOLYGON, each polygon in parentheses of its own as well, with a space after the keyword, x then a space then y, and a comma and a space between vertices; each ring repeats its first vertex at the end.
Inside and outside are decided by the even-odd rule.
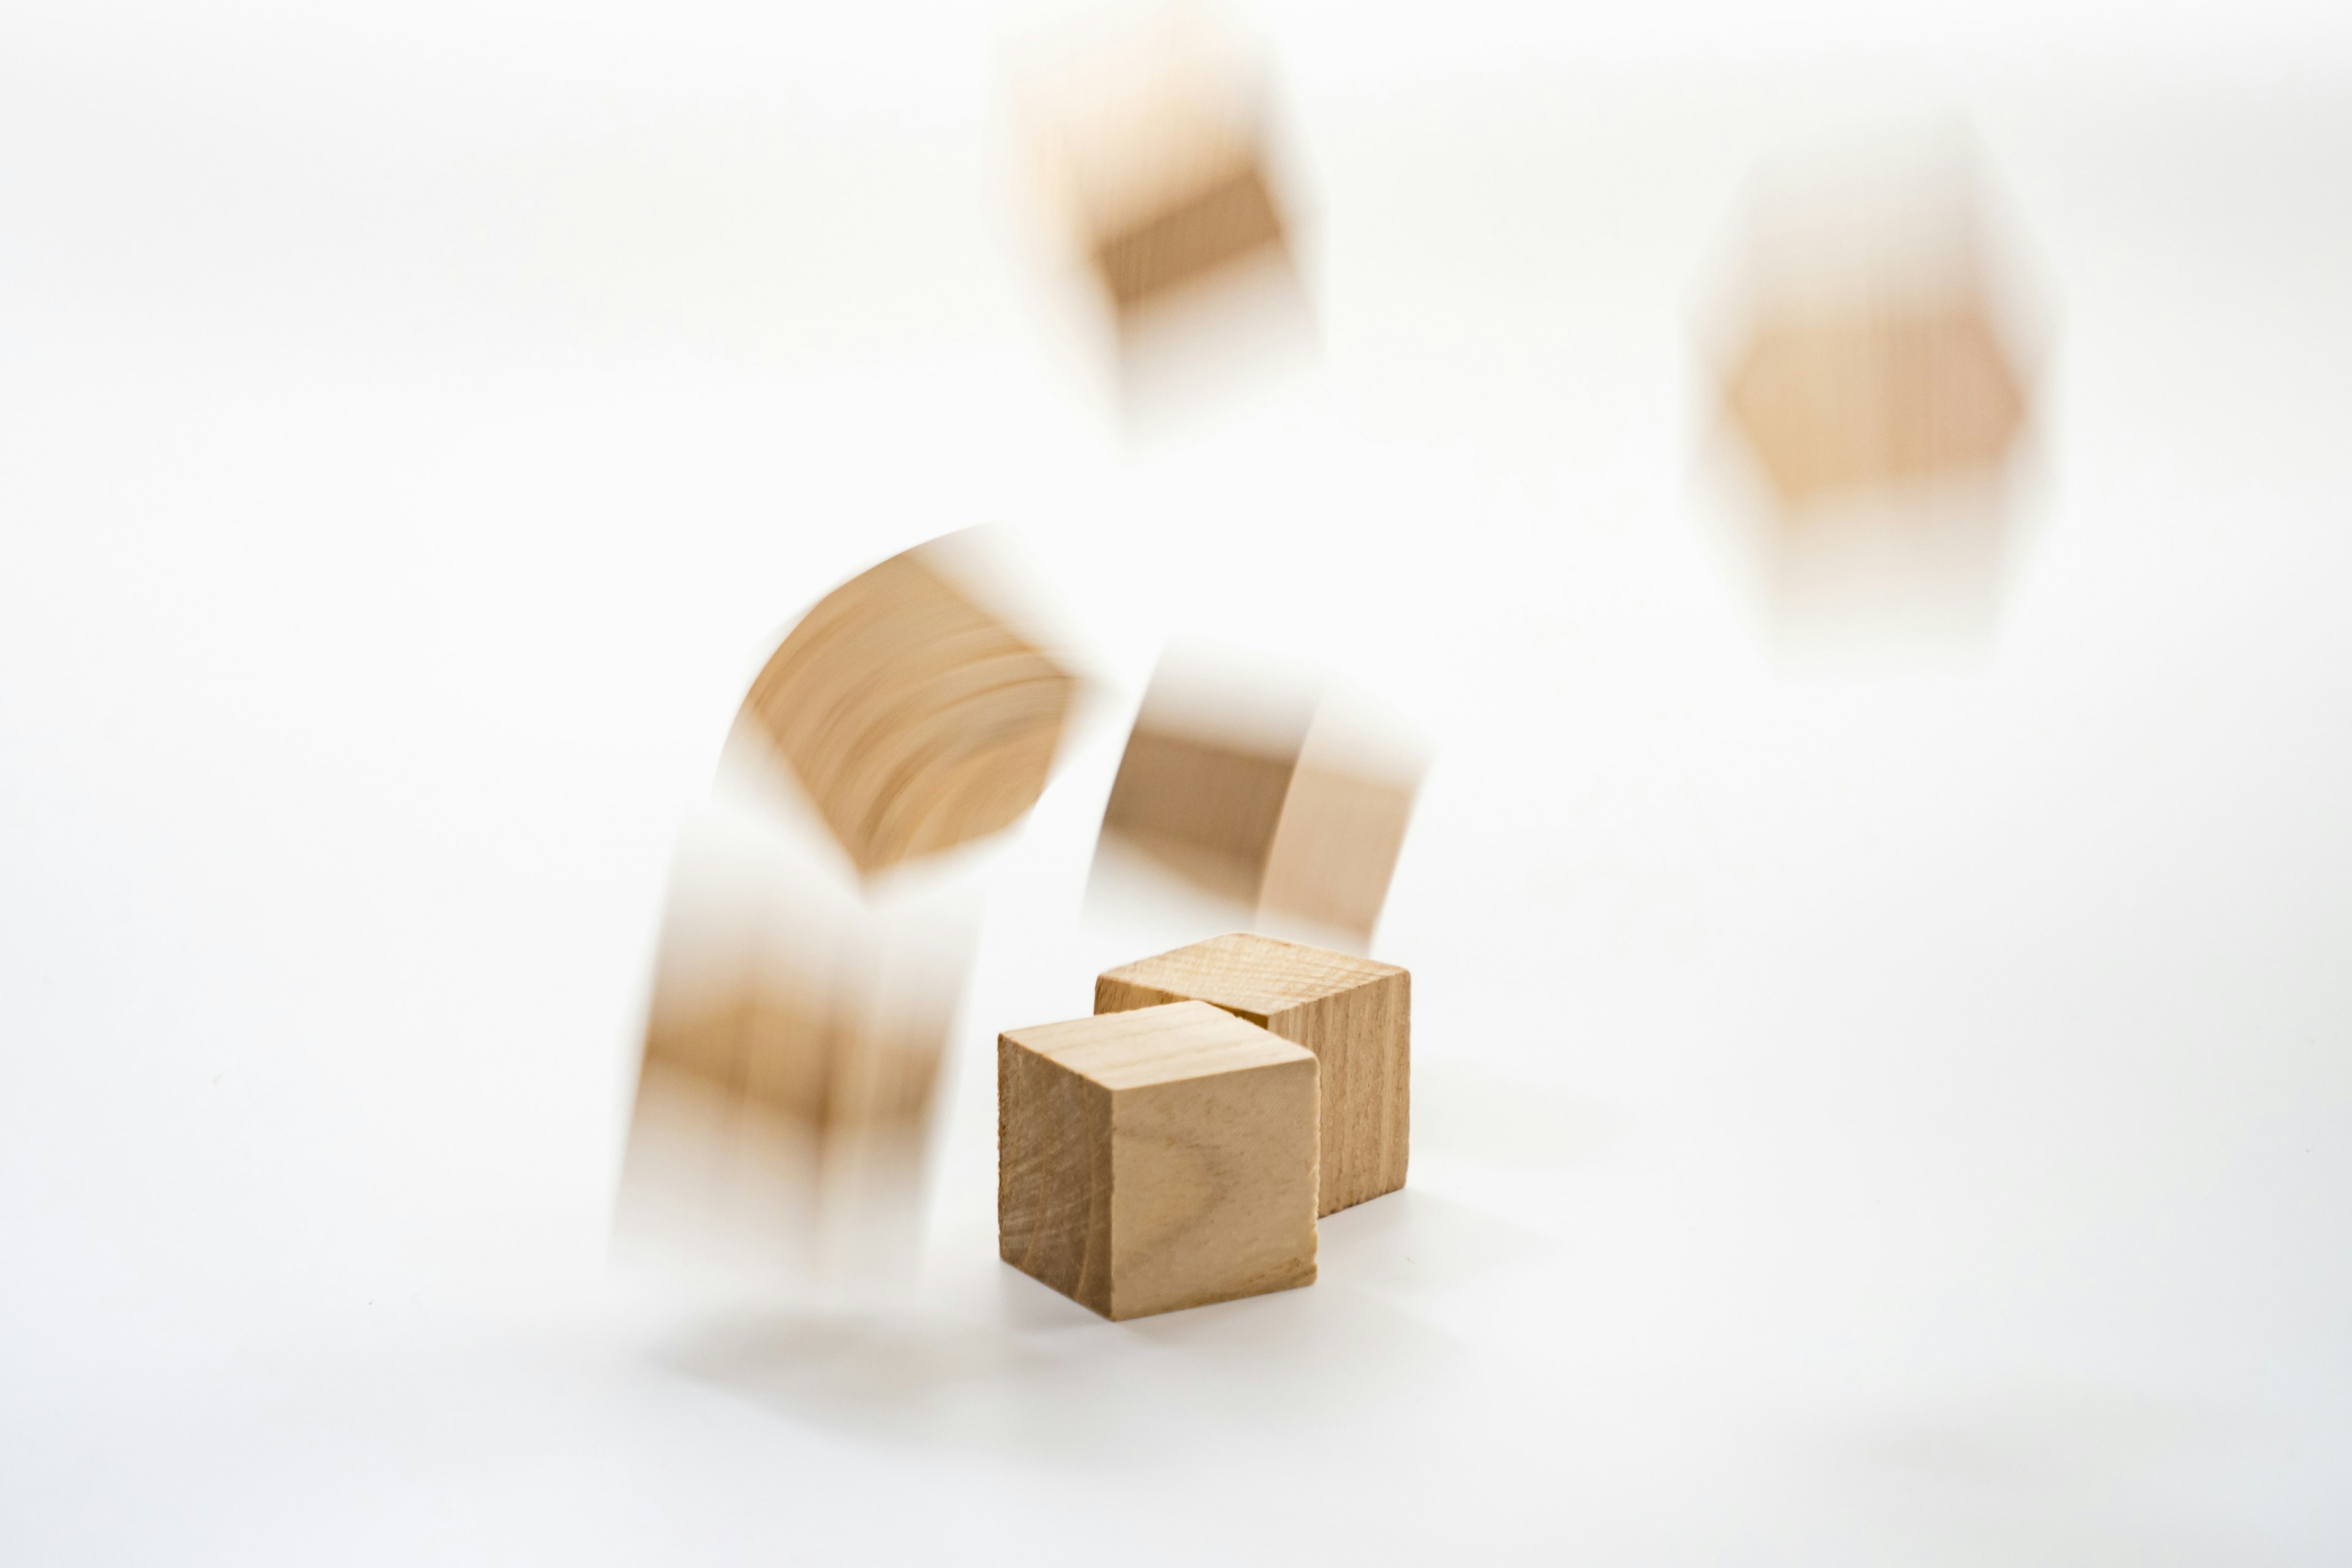
POLYGON ((1112 1319, 1315 1284, 1312 1058, 1112 1095, 1112 1319))

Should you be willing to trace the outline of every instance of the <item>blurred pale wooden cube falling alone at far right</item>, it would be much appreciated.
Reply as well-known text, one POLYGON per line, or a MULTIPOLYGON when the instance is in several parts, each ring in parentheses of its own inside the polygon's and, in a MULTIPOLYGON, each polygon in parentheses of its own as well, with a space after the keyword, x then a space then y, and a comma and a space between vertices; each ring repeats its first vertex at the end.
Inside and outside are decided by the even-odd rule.
POLYGON ((1980 644, 2042 329, 1957 132, 1766 167, 1700 327, 1792 644, 1980 644))

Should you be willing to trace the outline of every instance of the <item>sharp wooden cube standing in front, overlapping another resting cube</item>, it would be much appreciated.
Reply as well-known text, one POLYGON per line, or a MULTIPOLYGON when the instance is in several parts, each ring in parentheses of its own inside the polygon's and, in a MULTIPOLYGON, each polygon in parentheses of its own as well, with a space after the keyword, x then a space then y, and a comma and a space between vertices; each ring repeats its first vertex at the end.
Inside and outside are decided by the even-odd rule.
POLYGON ((1317 1063, 1202 1001, 997 1037, 997 1248, 1108 1319, 1315 1284, 1317 1063))

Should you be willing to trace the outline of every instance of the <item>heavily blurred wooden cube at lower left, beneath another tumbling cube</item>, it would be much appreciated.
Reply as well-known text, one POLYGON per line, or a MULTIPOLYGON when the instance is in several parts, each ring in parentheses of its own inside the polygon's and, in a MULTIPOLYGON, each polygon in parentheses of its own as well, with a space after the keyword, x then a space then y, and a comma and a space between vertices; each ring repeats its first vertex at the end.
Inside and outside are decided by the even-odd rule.
POLYGON ((906 1272, 976 933, 960 889, 877 907, 793 823, 701 813, 663 910, 621 1248, 694 1274, 906 1272))

